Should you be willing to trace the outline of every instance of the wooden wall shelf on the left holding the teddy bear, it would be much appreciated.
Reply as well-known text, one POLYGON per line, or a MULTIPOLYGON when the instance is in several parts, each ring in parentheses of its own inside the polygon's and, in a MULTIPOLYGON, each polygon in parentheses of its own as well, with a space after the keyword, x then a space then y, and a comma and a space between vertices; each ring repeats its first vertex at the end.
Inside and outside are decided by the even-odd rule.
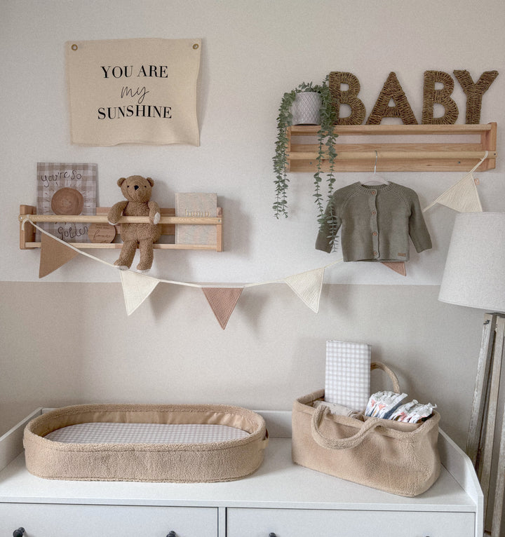
MULTIPOLYGON (((22 222, 25 221, 27 215, 29 219, 35 224, 37 222, 84 222, 84 223, 96 223, 107 224, 108 207, 97 207, 96 216, 74 216, 74 215, 37 215, 36 208, 33 205, 20 205, 20 248, 21 250, 29 250, 32 248, 40 248, 41 243, 35 242, 35 228, 29 222, 25 222, 25 226, 22 226, 22 222), (24 229, 23 229, 24 227, 24 229)), ((148 217, 121 217, 119 224, 116 227, 116 236, 121 233, 121 222, 149 222, 148 217)), ((210 225, 216 228, 216 242, 215 244, 166 244, 166 243, 154 243, 154 248, 157 250, 215 250, 216 252, 222 252, 222 208, 217 208, 217 217, 176 217, 175 209, 161 209, 161 233, 163 235, 175 235, 175 226, 177 224, 198 224, 198 225, 210 225)), ((88 248, 121 248, 123 243, 69 243, 72 246, 80 248, 82 250, 88 248)))

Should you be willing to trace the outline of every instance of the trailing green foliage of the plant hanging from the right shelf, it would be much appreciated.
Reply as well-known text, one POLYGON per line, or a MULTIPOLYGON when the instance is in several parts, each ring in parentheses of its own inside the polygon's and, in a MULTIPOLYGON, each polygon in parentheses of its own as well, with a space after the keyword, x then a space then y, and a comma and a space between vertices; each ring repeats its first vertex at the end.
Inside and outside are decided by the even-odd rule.
POLYGON ((332 106, 332 97, 330 94, 330 87, 328 86, 328 76, 323 83, 314 85, 312 82, 302 82, 289 93, 285 93, 281 100, 281 106, 278 110, 277 116, 277 140, 276 151, 274 155, 274 173, 275 173, 275 192, 276 200, 273 206, 274 216, 279 218, 281 216, 288 217, 288 175, 286 168, 288 165, 288 157, 286 151, 288 148, 288 134, 287 130, 290 125, 300 124, 319 124, 318 130, 318 157, 316 163, 316 172, 314 173, 314 198, 318 208, 318 222, 328 221, 328 217, 324 215, 323 207, 323 195, 321 194, 321 182, 323 175, 323 161, 328 160, 328 196, 333 191, 333 184, 335 183, 335 157, 337 153, 335 151, 335 140, 337 135, 333 132, 335 121, 337 120, 337 114, 335 108, 332 106), (304 94, 316 94, 318 97, 312 97, 318 103, 318 114, 316 119, 314 115, 311 116, 309 121, 316 121, 316 123, 307 123, 307 120, 303 117, 300 118, 298 114, 299 102, 305 100, 304 94))

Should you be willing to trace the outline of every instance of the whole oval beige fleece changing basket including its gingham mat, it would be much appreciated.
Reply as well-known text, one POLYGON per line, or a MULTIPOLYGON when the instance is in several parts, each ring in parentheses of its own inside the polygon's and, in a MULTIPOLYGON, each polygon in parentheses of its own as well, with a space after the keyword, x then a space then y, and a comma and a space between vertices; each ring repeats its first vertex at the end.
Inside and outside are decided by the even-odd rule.
POLYGON ((28 423, 27 470, 58 480, 218 482, 263 461, 259 414, 229 405, 74 405, 28 423))

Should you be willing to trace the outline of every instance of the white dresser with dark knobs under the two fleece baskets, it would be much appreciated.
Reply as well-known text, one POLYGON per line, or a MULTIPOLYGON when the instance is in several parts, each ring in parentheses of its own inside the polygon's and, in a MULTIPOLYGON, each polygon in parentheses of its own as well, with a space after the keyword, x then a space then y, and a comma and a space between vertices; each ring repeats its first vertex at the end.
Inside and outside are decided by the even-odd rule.
POLYGON ((225 483, 43 480, 22 430, 0 438, 0 537, 481 537, 483 496, 469 458, 444 433, 444 468, 417 498, 339 480, 291 461, 290 412, 260 412, 271 440, 256 473, 225 483), (170 533, 173 532, 173 533, 170 533), (20 534, 20 532, 18 532, 20 534))

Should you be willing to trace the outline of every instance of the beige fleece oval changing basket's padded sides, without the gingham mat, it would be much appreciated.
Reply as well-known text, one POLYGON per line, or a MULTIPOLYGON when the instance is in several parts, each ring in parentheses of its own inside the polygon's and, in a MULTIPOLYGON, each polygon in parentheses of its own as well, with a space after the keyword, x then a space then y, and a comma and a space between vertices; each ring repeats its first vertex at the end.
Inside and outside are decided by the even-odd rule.
POLYGON ((75 405, 25 428, 27 470, 58 480, 218 482, 246 477, 263 461, 268 433, 259 414, 229 405, 75 405), (214 424, 244 430, 237 440, 203 443, 64 443, 46 435, 79 423, 214 424))

